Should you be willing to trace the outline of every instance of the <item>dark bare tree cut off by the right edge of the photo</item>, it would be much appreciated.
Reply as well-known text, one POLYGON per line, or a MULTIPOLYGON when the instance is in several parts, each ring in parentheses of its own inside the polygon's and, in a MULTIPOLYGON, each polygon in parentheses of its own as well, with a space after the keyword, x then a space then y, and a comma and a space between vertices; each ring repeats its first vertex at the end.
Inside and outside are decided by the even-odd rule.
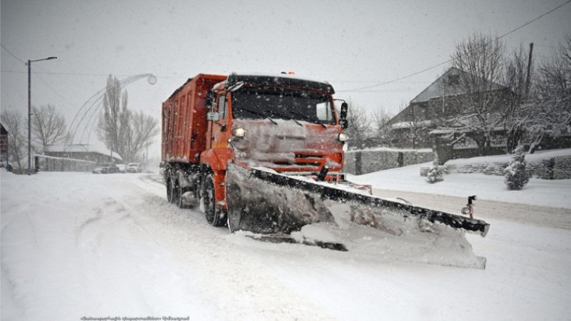
POLYGON ((530 102, 532 117, 527 122, 532 135, 530 153, 545 136, 557 137, 571 127, 571 34, 567 34, 552 57, 542 61, 530 102))

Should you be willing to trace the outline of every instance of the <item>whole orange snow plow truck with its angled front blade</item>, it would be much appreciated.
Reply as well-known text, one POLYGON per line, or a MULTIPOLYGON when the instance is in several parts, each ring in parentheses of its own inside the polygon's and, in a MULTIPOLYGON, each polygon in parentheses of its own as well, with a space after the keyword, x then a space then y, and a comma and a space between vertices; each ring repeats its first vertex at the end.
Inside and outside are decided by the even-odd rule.
POLYGON ((404 218, 420 228, 445 225, 486 235, 482 220, 352 186, 343 173, 348 104, 334 93, 327 82, 289 73, 189 78, 162 106, 168 201, 181 208, 199 204, 209 224, 266 238, 292 240, 288 235, 305 225, 334 225, 330 208, 340 203, 351 205, 355 223, 404 218))

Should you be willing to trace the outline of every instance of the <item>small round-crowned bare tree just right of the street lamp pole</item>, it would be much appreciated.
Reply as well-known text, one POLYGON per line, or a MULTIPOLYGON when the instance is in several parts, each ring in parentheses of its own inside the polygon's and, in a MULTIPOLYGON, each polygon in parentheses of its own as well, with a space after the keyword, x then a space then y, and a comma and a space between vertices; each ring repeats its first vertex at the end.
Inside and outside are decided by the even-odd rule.
POLYGON ((46 146, 66 138, 66 119, 52 105, 34 107, 31 129, 34 133, 34 141, 46 152, 46 146))

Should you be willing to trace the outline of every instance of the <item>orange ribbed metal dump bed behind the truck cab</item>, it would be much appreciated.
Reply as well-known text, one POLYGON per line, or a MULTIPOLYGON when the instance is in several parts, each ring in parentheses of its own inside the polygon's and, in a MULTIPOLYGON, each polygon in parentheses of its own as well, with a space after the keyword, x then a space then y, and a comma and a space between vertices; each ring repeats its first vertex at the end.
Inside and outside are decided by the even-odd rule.
POLYGON ((206 148, 206 93, 227 76, 199 74, 163 103, 161 160, 198 163, 206 148))

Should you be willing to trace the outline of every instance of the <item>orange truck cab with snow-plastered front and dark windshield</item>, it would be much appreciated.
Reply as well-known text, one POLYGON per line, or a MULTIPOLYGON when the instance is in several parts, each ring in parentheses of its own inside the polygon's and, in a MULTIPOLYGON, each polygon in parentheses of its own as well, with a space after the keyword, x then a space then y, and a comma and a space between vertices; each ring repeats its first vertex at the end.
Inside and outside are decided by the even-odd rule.
POLYGON ((289 75, 228 76, 208 93, 201 160, 220 170, 236 161, 298 175, 323 168, 339 173, 347 122, 335 110, 333 93, 328 83, 289 75))

